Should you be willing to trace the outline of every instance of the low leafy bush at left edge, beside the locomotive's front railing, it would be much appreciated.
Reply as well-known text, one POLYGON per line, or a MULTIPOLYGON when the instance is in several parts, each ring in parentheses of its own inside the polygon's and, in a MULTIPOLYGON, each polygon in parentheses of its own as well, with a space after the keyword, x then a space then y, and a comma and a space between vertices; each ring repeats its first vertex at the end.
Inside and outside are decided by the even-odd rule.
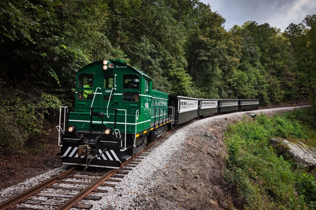
POLYGON ((39 136, 50 128, 46 115, 52 113, 46 119, 56 122, 54 113, 58 112, 61 101, 52 94, 37 94, 25 95, 13 89, 1 93, 0 118, 6 123, 0 125, 0 154, 23 153, 28 146, 36 145, 39 136))

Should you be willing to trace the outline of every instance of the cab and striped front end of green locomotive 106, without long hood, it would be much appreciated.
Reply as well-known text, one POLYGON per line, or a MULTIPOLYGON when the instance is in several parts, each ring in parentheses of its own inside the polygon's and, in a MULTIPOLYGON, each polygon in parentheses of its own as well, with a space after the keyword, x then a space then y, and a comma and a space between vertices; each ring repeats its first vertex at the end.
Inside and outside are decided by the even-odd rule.
POLYGON ((96 61, 76 73, 75 107, 65 108, 62 162, 119 168, 142 150, 151 126, 152 79, 122 60, 96 61))

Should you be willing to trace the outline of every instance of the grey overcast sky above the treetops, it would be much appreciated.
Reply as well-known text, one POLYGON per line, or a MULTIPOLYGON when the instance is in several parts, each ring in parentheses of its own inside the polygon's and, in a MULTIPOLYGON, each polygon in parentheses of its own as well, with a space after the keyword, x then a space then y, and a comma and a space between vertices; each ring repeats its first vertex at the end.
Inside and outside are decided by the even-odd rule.
POLYGON ((306 15, 316 14, 316 0, 201 0, 211 5, 225 19, 228 30, 235 24, 242 25, 247 20, 259 24, 281 28, 290 23, 301 23, 306 15))

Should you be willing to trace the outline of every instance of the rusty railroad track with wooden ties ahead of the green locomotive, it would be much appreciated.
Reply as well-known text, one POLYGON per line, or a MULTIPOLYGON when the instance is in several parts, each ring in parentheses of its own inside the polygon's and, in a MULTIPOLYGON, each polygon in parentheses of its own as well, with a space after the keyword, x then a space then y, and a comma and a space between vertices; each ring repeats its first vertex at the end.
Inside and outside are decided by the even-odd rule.
MULTIPOLYGON (((182 126, 181 126, 182 127, 182 126)), ((0 210, 4 209, 26 209, 26 210, 43 210, 47 208, 54 209, 70 209, 72 207, 80 209, 90 209, 92 204, 85 203, 84 200, 100 200, 102 196, 94 196, 95 192, 107 193, 107 190, 99 189, 99 186, 115 187, 113 182, 120 182, 126 174, 136 167, 137 164, 144 159, 144 156, 159 145, 163 144, 179 127, 167 132, 162 137, 150 142, 142 151, 137 153, 134 157, 122 163, 118 169, 110 169, 103 173, 92 173, 80 170, 79 167, 72 167, 67 171, 60 173, 50 179, 47 179, 40 184, 0 203, 0 210), (119 178, 119 179, 118 179, 119 178), (67 181, 65 179, 76 179, 80 181, 67 181), (91 180, 89 182, 88 180, 91 180), (68 184, 67 186, 59 184, 68 184), (76 185, 87 185, 86 187, 77 187, 76 185), (69 186, 71 185, 71 186, 69 186), (64 190, 65 193, 47 193, 41 192, 46 189, 64 190), (71 191, 71 193, 69 193, 71 191), (78 192, 79 191, 79 192, 78 192), (76 193, 77 192, 77 193, 76 193), (42 196, 48 199, 60 198, 68 199, 62 201, 49 201, 33 199, 33 197, 42 196), (24 207, 22 204, 31 204, 32 207, 24 207), (45 206, 45 208, 41 208, 45 206), (48 207, 49 206, 49 207, 48 207)), ((29 206, 29 205, 28 205, 29 206)))

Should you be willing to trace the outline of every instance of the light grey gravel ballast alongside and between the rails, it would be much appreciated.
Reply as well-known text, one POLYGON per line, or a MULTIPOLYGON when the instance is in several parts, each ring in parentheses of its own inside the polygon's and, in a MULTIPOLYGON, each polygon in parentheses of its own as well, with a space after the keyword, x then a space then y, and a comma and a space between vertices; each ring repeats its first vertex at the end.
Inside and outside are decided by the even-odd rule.
MULTIPOLYGON (((109 191, 108 193, 93 194, 94 196, 102 196, 101 200, 85 200, 84 203, 93 204, 92 209, 186 209, 183 205, 180 205, 178 202, 173 202, 172 200, 163 199, 163 203, 161 201, 157 201, 158 198, 156 195, 161 193, 160 186, 168 185, 166 182, 170 182, 170 184, 175 185, 173 190, 177 190, 179 187, 180 183, 177 183, 179 180, 170 178, 164 172, 166 169, 170 169, 170 172, 173 171, 173 173, 175 173, 178 169, 180 170, 182 165, 178 166, 177 164, 179 162, 183 162, 182 158, 185 156, 184 151, 187 147, 185 142, 188 138, 204 135, 204 131, 211 127, 212 129, 209 129, 209 132, 212 133, 212 135, 215 135, 216 138, 222 139, 226 126, 230 123, 240 121, 243 115, 250 116, 250 113, 260 114, 263 112, 268 116, 273 116, 275 113, 288 112, 302 107, 306 106, 234 112, 196 120, 181 127, 162 145, 150 152, 148 156, 145 156, 145 158, 142 159, 142 161, 134 167, 133 170, 125 175, 121 182, 113 183, 116 184, 115 187, 99 187, 99 189, 109 191), (166 180, 166 177, 168 180, 166 180)), ((27 190, 38 184, 40 181, 51 178, 52 176, 65 171, 66 168, 67 166, 63 166, 50 170, 39 176, 27 179, 23 183, 1 190, 0 198, 15 196, 16 193, 27 190)), ((179 173, 177 176, 179 176, 179 173)), ((198 178, 196 179, 199 179, 199 176, 197 177, 198 178)), ((71 184, 62 185, 73 186, 71 184)), ((53 193, 56 192, 56 190, 46 189, 45 192, 53 193)), ((168 193, 166 195, 168 195, 168 193)), ((220 204, 220 202, 218 203, 220 204)), ((29 207, 31 206, 32 205, 29 207)), ((221 204, 219 206, 224 207, 225 204, 221 204)))

